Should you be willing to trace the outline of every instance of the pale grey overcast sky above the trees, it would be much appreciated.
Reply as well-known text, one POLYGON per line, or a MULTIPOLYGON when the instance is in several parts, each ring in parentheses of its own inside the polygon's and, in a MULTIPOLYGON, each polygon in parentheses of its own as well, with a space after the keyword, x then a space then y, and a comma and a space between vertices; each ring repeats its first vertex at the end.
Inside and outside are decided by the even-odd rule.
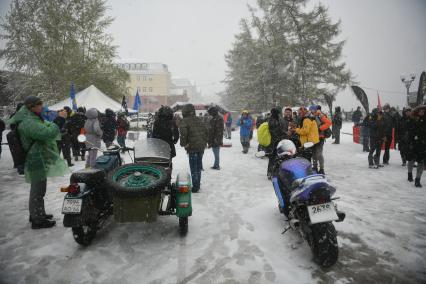
MULTIPOLYGON (((401 73, 426 70, 426 0, 313 0, 329 7, 342 21, 347 41, 343 60, 360 86, 379 89, 382 102, 406 101, 401 73)), ((173 77, 195 80, 203 95, 223 89, 224 54, 248 17, 255 0, 108 0, 115 18, 109 32, 122 60, 162 62, 173 77)), ((0 13, 10 0, 0 0, 0 13)), ((3 44, 3 43, 2 43, 3 44)), ((417 76, 418 77, 418 76, 417 76)), ((411 91, 418 87, 418 78, 411 91)), ((365 89, 370 105, 375 90, 365 89)), ((337 104, 349 109, 358 103, 350 91, 337 104)))

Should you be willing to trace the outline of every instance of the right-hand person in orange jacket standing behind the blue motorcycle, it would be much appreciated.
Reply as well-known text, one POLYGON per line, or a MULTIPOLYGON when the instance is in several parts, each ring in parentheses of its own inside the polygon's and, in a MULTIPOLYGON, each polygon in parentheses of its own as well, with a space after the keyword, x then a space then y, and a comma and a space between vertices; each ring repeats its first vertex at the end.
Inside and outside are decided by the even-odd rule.
POLYGON ((325 139, 327 138, 326 131, 330 131, 331 120, 327 117, 327 115, 322 113, 321 106, 311 106, 309 110, 316 117, 316 121, 318 124, 318 134, 319 134, 319 142, 315 144, 314 146, 314 153, 312 157, 312 160, 313 160, 312 167, 319 174, 325 174, 323 149, 324 149, 325 139), (319 170, 318 170, 318 163, 320 166, 319 170))

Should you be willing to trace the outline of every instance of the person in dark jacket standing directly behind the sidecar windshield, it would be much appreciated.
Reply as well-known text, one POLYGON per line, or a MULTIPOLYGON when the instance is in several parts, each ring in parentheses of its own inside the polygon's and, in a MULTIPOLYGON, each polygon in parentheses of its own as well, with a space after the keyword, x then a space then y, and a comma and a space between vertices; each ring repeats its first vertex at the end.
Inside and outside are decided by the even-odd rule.
POLYGON ((170 145, 171 157, 176 157, 175 144, 179 141, 179 129, 173 119, 173 110, 162 106, 154 121, 152 138, 166 141, 170 145))

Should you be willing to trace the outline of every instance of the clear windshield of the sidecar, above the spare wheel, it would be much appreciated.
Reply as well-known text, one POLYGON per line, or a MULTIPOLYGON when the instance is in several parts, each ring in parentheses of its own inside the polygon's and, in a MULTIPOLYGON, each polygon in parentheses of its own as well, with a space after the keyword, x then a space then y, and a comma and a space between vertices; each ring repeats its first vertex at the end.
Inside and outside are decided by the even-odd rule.
POLYGON ((135 162, 167 163, 170 161, 170 146, 156 138, 138 140, 135 143, 135 158, 135 162))

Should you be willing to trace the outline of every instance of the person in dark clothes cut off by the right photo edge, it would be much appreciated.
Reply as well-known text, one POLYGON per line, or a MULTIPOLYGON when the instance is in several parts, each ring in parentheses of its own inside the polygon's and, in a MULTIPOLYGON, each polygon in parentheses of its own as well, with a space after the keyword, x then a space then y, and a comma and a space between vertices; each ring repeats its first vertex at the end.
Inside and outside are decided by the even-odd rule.
POLYGON ((414 185, 422 187, 424 164, 426 160, 426 105, 418 106, 412 111, 411 119, 407 123, 408 149, 407 168, 408 181, 413 181, 414 162, 417 162, 417 172, 414 185))

